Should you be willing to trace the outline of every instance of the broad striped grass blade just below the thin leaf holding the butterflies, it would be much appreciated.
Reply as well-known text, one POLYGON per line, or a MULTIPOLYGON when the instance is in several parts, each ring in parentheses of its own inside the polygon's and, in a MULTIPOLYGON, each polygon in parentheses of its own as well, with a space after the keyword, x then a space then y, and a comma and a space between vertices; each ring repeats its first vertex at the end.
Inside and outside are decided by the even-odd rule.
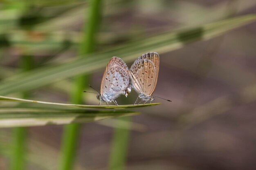
POLYGON ((1 108, 0 128, 85 123, 137 114, 128 110, 1 108))

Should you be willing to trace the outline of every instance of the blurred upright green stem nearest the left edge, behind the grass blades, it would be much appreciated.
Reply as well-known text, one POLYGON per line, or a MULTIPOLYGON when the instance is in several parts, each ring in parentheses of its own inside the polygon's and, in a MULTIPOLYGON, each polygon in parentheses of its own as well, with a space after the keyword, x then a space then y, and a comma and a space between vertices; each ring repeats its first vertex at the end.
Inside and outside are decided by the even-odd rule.
MULTIPOLYGON (((29 71, 34 67, 34 58, 32 56, 22 56, 20 68, 22 71, 29 71)), ((23 93, 23 97, 27 98, 28 92, 23 93)), ((13 128, 13 146, 10 162, 10 170, 25 169, 25 154, 26 154, 26 138, 27 130, 24 127, 13 128)))

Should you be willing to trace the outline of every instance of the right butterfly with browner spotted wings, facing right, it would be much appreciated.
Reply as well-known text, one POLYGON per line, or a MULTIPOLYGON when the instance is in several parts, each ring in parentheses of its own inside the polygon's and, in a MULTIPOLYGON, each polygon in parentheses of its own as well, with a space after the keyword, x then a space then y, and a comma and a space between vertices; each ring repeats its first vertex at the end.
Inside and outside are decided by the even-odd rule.
MULTIPOLYGON (((135 104, 139 98, 141 99, 141 102, 145 101, 145 104, 148 100, 150 100, 151 103, 155 97, 157 97, 152 94, 155 91, 158 73, 159 55, 156 52, 143 54, 132 64, 129 70, 131 86, 139 94, 135 104)), ((171 100, 167 101, 171 102, 171 100)))

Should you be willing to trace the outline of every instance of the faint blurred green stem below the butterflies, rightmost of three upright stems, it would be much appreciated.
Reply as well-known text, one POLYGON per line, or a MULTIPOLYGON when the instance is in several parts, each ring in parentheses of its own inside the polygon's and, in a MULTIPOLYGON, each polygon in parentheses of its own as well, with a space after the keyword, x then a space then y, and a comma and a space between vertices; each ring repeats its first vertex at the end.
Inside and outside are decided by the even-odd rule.
MULTIPOLYGON (((131 117, 120 117, 118 119, 127 122, 131 121, 131 117)), ((114 129, 108 170, 125 169, 129 139, 130 129, 114 129)))

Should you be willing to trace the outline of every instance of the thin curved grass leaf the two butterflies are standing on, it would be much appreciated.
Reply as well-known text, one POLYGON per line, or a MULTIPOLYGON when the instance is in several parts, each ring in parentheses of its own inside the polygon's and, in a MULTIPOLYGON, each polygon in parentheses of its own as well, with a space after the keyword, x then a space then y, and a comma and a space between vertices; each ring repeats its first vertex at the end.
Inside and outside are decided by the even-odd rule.
MULTIPOLYGON (((146 106, 155 106, 161 103, 151 103, 151 104, 139 104, 139 105, 119 105, 119 106, 95 106, 95 105, 83 105, 83 104, 64 104, 64 103, 53 103, 53 102, 42 102, 37 100, 28 100, 28 99, 19 99, 14 97, 5 97, 0 96, 0 101, 7 101, 7 102, 27 102, 27 103, 40 103, 40 104, 52 104, 52 105, 59 105, 59 106, 70 106, 70 107, 79 107, 79 108, 110 108, 110 109, 125 109, 125 108, 139 108, 139 107, 146 107, 146 106)), ((1 109, 0 109, 1 110, 1 109)))

